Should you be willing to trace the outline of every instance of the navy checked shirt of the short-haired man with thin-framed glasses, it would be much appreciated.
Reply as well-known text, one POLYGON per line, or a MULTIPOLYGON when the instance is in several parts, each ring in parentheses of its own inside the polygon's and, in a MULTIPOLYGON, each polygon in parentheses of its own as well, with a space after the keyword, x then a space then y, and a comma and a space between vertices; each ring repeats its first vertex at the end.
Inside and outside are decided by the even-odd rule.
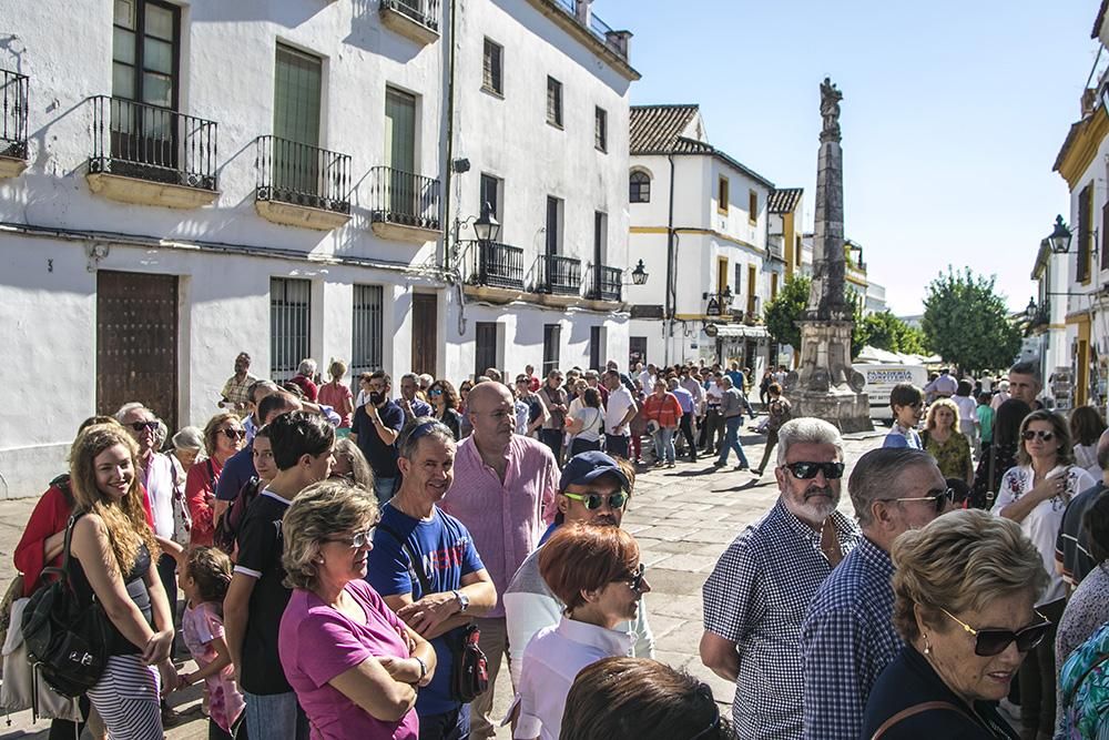
POLYGON ((905 647, 893 626, 889 554, 863 537, 816 591, 801 627, 808 738, 857 738, 866 698, 905 647))

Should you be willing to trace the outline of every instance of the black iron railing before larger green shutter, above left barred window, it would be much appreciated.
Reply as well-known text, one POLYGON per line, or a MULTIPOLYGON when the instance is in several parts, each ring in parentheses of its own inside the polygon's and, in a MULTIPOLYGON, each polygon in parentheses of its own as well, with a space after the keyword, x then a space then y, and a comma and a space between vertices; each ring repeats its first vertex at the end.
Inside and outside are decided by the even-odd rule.
POLYGON ((350 155, 281 136, 258 136, 256 197, 350 213, 350 155))

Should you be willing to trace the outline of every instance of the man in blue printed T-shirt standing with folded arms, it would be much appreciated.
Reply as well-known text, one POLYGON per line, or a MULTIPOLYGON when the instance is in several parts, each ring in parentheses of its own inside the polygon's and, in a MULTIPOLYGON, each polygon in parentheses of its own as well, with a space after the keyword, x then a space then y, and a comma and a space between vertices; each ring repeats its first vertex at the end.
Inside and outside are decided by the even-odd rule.
POLYGON ((435 676, 416 699, 420 740, 469 737, 469 704, 451 696, 452 645, 464 639, 462 627, 497 604, 469 530, 438 507, 455 478, 456 449, 451 430, 434 418, 405 427, 400 488, 381 507, 367 556, 366 580, 435 648, 435 676))

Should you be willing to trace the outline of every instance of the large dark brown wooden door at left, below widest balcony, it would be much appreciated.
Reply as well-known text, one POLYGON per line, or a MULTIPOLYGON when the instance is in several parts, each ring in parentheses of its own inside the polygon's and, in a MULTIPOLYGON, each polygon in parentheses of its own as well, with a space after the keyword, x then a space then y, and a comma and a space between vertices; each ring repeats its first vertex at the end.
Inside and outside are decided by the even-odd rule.
POLYGON ((138 401, 177 430, 177 277, 96 273, 96 413, 138 401))

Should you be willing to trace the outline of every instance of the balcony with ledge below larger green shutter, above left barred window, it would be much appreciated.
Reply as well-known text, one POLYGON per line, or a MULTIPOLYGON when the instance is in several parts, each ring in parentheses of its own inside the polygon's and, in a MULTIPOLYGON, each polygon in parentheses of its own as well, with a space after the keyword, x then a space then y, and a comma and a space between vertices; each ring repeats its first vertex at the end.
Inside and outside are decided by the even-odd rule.
POLYGON ((254 207, 273 223, 329 231, 350 221, 350 156, 279 136, 255 140, 254 207))

